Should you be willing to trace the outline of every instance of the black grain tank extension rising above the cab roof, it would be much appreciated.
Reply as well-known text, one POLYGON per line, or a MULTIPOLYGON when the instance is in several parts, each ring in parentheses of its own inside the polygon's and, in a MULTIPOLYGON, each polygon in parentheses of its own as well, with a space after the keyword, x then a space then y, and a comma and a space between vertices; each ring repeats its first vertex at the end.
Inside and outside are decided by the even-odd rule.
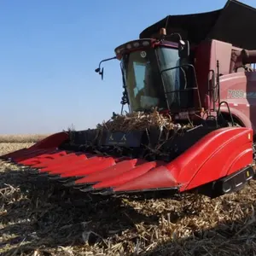
POLYGON ((140 38, 153 38, 161 27, 168 34, 179 32, 190 44, 205 39, 218 39, 244 49, 256 48, 256 9, 236 0, 229 0, 223 9, 193 15, 168 15, 148 26, 140 38))

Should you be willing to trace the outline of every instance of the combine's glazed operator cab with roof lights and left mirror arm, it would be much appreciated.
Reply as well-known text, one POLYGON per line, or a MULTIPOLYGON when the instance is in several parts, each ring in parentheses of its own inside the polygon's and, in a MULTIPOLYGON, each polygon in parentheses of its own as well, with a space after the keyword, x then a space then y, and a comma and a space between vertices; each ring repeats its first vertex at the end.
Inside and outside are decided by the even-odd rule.
MULTIPOLYGON (((127 42, 117 47, 115 54, 103 61, 120 61, 122 103, 128 103, 131 112, 158 108, 180 113, 181 109, 194 107, 192 90, 199 96, 195 68, 189 61, 189 41, 183 41, 178 33, 166 35, 166 29, 161 28, 157 38, 127 42), (169 38, 178 40, 172 42, 169 38)), ((102 76, 101 64, 102 61, 96 73, 102 76)))

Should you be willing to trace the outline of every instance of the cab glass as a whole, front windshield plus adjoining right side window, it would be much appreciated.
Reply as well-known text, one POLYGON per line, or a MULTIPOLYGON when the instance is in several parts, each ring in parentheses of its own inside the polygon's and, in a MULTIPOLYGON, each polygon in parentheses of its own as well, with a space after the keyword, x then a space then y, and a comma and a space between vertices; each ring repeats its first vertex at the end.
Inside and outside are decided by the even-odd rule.
POLYGON ((185 63, 187 60, 181 63, 177 49, 166 47, 131 52, 124 56, 122 67, 131 111, 154 107, 163 110, 168 106, 171 111, 178 111, 193 104, 192 97, 189 98, 192 91, 182 91, 188 86, 188 79, 185 79, 185 68, 179 66, 185 63), (160 74, 160 70, 168 68, 171 69, 160 74))

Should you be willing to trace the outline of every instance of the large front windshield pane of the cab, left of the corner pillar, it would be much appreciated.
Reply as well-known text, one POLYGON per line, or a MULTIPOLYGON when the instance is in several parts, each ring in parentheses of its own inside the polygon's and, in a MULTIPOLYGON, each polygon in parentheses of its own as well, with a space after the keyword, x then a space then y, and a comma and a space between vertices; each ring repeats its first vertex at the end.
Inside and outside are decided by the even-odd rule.
POLYGON ((166 98, 154 49, 136 51, 122 60, 131 111, 166 109, 166 98))

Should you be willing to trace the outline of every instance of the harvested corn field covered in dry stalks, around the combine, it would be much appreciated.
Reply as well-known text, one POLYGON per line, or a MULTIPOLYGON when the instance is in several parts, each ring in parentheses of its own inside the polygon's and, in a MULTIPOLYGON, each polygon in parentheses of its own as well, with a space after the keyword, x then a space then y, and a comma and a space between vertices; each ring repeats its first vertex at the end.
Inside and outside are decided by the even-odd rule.
MULTIPOLYGON (((0 154, 32 143, 0 143, 0 154)), ((114 198, 32 180, 0 163, 0 253, 10 255, 255 255, 256 183, 214 200, 114 198)))

